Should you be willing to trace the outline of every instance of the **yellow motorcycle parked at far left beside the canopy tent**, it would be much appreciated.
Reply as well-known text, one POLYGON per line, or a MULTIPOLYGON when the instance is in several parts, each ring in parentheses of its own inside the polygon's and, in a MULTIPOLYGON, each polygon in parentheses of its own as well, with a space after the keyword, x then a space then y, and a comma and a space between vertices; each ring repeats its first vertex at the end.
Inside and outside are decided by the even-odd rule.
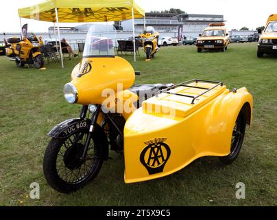
POLYGON ((44 65, 43 54, 40 52, 40 41, 35 35, 25 37, 23 41, 19 38, 8 39, 10 47, 6 48, 6 55, 16 66, 24 67, 25 64, 40 69, 44 65))

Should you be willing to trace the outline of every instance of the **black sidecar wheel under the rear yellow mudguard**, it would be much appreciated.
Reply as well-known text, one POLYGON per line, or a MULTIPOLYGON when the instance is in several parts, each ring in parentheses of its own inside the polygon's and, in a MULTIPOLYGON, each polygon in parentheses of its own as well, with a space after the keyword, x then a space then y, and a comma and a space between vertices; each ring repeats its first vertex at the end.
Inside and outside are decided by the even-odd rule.
POLYGON ((236 124, 234 125, 234 129, 232 131, 230 154, 226 157, 219 157, 221 162, 223 162, 224 164, 231 164, 232 162, 234 162, 234 160, 239 155, 239 151, 241 151, 246 126, 245 118, 245 109, 241 109, 236 120, 236 124))

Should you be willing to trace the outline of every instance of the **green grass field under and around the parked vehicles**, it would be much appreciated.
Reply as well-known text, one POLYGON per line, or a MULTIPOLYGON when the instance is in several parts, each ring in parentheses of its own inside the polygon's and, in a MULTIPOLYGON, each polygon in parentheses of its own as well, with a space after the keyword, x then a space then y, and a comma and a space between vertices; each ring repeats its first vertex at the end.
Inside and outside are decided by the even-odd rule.
POLYGON ((180 83, 192 78, 222 80, 228 88, 248 87, 254 97, 252 127, 247 129, 234 164, 204 157, 178 173, 138 184, 124 184, 123 157, 111 153, 97 178, 71 195, 50 188, 43 176, 47 132, 76 117, 62 87, 78 62, 65 69, 19 68, 0 57, 0 205, 5 206, 277 206, 277 58, 256 58, 256 44, 232 44, 228 51, 202 52, 194 46, 162 47, 151 62, 143 53, 134 63, 136 83, 180 83), (29 184, 40 184, 40 199, 30 199, 29 184), (243 182, 246 198, 236 199, 243 182))

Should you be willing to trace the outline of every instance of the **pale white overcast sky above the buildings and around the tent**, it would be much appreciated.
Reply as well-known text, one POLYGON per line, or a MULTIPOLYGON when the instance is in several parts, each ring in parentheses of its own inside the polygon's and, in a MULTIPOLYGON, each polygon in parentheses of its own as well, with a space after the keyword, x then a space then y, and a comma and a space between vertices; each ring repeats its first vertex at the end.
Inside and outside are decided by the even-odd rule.
MULTIPOLYGON (((1 1, 0 32, 20 32, 18 8, 40 3, 43 0, 9 0, 1 1), (7 5, 5 5, 7 4, 7 5)), ((93 1, 93 0, 91 0, 93 1)), ((112 1, 112 0, 110 0, 112 1)), ((250 30, 265 25, 267 17, 277 13, 277 0, 136 0, 145 12, 150 10, 165 10, 180 8, 188 14, 223 14, 226 27, 240 29, 248 27, 250 30)), ((29 31, 47 32, 53 23, 22 19, 22 24, 29 24, 29 31)), ((62 23, 62 26, 75 26, 76 23, 62 23)))

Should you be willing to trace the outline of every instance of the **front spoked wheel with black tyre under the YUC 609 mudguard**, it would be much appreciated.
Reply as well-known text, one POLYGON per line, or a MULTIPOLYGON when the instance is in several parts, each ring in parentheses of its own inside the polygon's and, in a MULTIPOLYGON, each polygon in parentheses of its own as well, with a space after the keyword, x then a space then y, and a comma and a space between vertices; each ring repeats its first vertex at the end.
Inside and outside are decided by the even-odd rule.
POLYGON ((53 138, 45 151, 43 171, 49 185, 59 192, 73 192, 94 179, 103 163, 101 140, 91 139, 81 159, 88 131, 77 131, 65 139, 53 138))

